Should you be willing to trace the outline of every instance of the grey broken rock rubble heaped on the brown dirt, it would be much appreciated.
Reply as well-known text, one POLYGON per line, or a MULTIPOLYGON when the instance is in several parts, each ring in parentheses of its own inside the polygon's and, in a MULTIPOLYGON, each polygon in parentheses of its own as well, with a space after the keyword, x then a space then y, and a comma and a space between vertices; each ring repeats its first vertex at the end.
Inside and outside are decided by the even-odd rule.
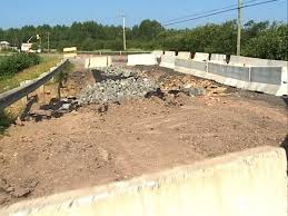
MULTIPOLYGON (((88 86, 78 97, 78 105, 119 102, 129 98, 143 98, 162 94, 160 84, 147 78, 145 72, 138 69, 122 67, 109 67, 103 71, 95 71, 97 80, 88 86)), ((181 92, 188 96, 205 95, 203 89, 182 88, 181 92)))

